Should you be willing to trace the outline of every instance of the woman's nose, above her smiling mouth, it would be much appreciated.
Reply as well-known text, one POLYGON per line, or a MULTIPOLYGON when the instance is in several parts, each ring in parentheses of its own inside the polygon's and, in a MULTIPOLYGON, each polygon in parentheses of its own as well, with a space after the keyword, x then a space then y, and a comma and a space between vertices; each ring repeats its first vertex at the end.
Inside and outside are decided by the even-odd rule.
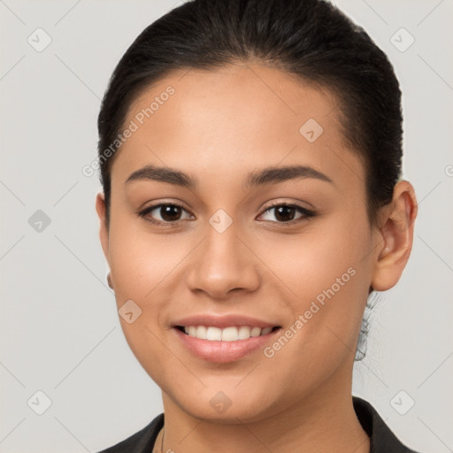
POLYGON ((233 292, 257 290, 261 280, 259 258, 247 242, 247 235, 238 234, 234 222, 222 233, 207 227, 190 263, 187 282, 192 291, 211 299, 231 300, 233 292))

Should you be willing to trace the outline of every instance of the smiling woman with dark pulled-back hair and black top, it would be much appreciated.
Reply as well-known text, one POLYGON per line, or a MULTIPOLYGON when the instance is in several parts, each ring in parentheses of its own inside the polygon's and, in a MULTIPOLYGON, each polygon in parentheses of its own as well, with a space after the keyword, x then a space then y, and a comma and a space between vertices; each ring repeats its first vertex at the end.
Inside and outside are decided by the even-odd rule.
POLYGON ((188 2, 121 58, 98 128, 109 283, 165 410, 104 451, 413 451, 351 395, 417 215, 365 31, 319 0, 188 2))

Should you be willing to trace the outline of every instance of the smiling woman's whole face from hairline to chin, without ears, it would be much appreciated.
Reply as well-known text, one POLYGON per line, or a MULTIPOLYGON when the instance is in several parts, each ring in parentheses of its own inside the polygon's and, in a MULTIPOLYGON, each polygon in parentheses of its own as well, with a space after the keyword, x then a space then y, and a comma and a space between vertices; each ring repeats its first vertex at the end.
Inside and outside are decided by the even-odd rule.
POLYGON ((232 65, 173 73, 131 105, 101 238, 127 342, 168 404, 234 423, 350 393, 379 235, 336 104, 232 65))

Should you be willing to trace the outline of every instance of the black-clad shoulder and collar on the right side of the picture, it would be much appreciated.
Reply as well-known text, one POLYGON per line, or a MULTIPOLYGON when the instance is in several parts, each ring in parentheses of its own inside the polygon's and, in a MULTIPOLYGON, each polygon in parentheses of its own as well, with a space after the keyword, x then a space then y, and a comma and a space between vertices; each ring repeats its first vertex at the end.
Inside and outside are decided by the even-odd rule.
POLYGON ((371 403, 352 397, 358 421, 370 437, 370 453, 418 453, 405 446, 390 430, 371 403))

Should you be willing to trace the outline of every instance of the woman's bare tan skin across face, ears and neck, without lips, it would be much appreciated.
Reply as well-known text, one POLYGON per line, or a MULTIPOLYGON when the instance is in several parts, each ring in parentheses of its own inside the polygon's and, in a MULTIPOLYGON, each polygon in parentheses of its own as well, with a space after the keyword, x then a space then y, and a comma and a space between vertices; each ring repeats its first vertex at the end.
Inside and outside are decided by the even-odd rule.
MULTIPOLYGON (((173 73, 134 101, 125 125, 168 85, 174 95, 115 157, 108 228, 104 196, 96 197, 117 306, 132 299, 142 310, 134 323, 120 322, 162 389, 163 451, 296 452, 303 445, 304 452, 368 452, 351 399, 354 355, 370 288, 392 288, 410 256, 411 184, 396 184, 371 226, 365 168, 343 144, 336 99, 270 66, 173 73), (315 142, 299 133, 310 118, 324 129, 315 142), (193 175, 196 189, 125 183, 150 164, 193 175), (299 178, 244 188, 248 173, 284 165, 309 165, 332 183, 299 178), (265 211, 273 201, 317 215, 294 211, 301 221, 286 226, 275 209, 265 211), (137 215, 164 202, 185 206, 179 226, 137 215), (219 209, 233 220, 221 234, 209 223, 219 209), (349 268, 355 275, 273 357, 257 349, 214 364, 188 352, 171 327, 193 314, 241 313, 284 331, 349 268), (210 403, 219 391, 231 401, 222 413, 210 403)), ((168 219, 159 209, 152 216, 168 219)))

